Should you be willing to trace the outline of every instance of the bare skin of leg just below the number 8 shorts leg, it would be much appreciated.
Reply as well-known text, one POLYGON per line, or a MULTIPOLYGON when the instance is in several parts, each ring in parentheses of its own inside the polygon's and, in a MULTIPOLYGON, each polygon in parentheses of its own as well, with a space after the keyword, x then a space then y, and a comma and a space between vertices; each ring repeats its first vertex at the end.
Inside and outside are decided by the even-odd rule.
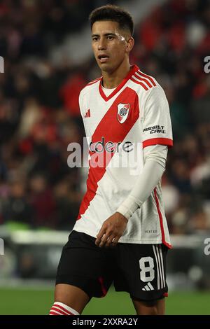
POLYGON ((138 315, 165 315, 165 298, 153 301, 132 299, 138 315))

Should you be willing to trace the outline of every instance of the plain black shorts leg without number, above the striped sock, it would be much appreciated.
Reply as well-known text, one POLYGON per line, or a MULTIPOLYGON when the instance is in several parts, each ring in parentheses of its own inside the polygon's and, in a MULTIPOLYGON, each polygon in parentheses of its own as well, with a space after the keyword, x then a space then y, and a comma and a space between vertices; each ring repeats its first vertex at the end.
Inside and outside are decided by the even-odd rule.
POLYGON ((73 231, 62 250, 56 283, 74 286, 91 297, 103 297, 112 282, 111 262, 95 239, 73 231))

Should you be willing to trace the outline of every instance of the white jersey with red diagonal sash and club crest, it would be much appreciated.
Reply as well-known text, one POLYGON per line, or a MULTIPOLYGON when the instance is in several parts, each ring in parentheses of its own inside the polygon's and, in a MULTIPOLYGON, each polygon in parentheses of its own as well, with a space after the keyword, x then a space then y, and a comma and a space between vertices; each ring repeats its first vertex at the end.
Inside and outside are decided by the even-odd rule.
MULTIPOLYGON (((173 145, 172 125, 165 92, 136 65, 107 97, 102 77, 88 83, 80 92, 79 104, 90 152, 87 192, 73 230, 96 237, 134 187, 144 167, 143 149, 173 145), (104 153, 108 160, 105 157, 103 165, 96 166, 104 153)), ((130 217, 119 242, 171 246, 161 181, 130 217)))

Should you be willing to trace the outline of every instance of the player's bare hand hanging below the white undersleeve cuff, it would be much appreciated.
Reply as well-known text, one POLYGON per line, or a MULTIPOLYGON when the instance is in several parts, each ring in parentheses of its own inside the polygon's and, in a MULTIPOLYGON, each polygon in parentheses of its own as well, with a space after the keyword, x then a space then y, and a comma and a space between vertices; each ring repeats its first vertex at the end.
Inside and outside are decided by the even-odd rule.
POLYGON ((110 216, 99 230, 95 244, 99 247, 116 246, 127 227, 127 222, 127 218, 118 212, 110 216))

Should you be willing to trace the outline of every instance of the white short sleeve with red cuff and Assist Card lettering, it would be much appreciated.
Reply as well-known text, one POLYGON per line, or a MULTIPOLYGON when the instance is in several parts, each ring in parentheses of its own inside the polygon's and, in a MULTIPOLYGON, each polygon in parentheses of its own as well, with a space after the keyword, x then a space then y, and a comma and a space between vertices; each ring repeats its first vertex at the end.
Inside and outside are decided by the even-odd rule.
POLYGON ((169 104, 160 85, 153 87, 144 104, 142 142, 143 148, 156 144, 173 146, 169 104))

